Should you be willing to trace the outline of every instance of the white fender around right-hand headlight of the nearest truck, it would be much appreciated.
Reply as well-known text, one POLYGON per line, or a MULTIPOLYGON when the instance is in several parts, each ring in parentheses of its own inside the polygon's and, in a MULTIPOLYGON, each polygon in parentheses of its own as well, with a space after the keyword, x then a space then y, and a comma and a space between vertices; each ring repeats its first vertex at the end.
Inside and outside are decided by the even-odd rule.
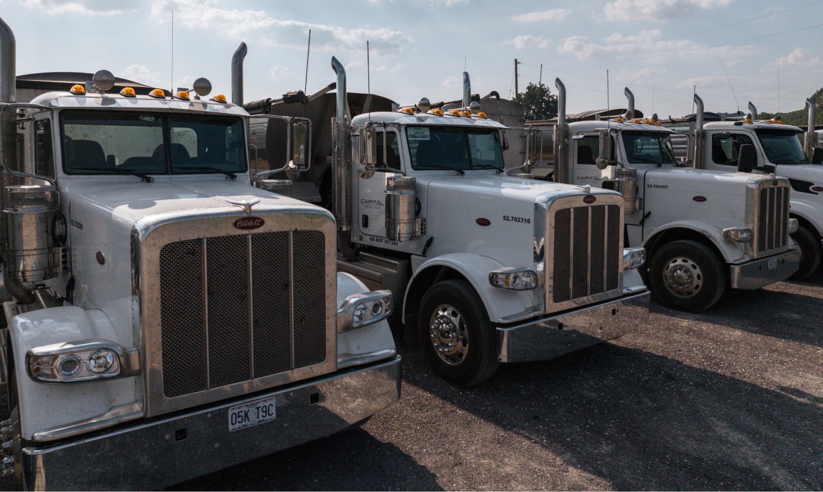
MULTIPOLYGON (((350 295, 368 291, 355 276, 337 272, 337 306, 350 295)), ((396 301, 393 299, 392 302, 396 301)), ((355 330, 337 332, 337 369, 384 359, 396 352, 392 330, 385 319, 355 330)))

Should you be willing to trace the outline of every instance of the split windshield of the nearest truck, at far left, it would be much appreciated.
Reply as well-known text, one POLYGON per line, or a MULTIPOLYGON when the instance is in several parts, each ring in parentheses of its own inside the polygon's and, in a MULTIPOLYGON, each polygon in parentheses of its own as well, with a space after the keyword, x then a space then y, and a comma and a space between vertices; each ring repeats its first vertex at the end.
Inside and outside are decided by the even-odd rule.
POLYGON ((243 120, 215 114, 65 110, 67 174, 202 174, 246 170, 243 120))

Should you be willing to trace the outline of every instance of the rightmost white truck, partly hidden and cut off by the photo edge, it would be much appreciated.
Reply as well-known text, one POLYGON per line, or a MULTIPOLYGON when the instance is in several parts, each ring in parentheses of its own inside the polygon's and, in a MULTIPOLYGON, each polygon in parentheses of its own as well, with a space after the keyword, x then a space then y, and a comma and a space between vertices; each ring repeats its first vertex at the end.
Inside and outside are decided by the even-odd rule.
POLYGON ((695 169, 723 172, 736 169, 742 155, 751 155, 753 161, 743 165, 752 172, 788 179, 792 188, 789 216, 798 221, 792 239, 801 251, 800 266, 792 278, 802 279, 816 272, 823 258, 823 149, 817 146, 819 136, 814 131, 814 101, 806 100, 807 132, 779 119, 758 120, 751 102, 751 113, 745 118, 713 122, 705 121, 703 100, 696 94, 695 104, 693 121, 687 126, 681 123, 678 134, 672 135, 673 141, 681 142, 675 146, 675 155, 686 158, 695 169), (753 155, 740 152, 744 145, 752 146, 753 155))

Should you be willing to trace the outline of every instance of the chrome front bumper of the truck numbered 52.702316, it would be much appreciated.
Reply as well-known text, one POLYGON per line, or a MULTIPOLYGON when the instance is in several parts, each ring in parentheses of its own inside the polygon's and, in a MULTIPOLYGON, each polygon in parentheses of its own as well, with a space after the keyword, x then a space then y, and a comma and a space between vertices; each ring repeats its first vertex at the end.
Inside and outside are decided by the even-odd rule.
POLYGON ((649 290, 603 304, 542 318, 514 327, 498 327, 501 362, 549 360, 620 337, 649 318, 649 290))

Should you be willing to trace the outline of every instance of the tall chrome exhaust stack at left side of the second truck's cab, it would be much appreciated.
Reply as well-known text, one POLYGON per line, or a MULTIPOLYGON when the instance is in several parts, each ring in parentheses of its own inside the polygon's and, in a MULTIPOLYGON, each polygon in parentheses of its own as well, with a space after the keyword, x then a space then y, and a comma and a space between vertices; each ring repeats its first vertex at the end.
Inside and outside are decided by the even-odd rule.
MULTIPOLYGON (((332 57, 332 69, 337 74, 337 114, 332 120, 332 194, 333 212, 337 219, 337 231, 351 230, 351 137, 349 127, 348 94, 346 92, 346 68, 332 57)), ((348 241, 338 238, 338 248, 347 247, 348 241), (344 246, 345 245, 345 246, 344 246)))

